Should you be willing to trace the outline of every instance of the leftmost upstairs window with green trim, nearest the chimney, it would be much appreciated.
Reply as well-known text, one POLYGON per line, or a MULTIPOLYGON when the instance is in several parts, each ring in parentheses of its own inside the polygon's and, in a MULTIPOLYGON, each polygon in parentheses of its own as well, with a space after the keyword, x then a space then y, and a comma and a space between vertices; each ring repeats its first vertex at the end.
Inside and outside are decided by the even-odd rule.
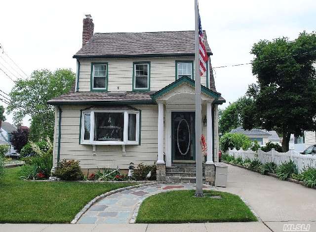
POLYGON ((92 89, 107 89, 107 64, 92 64, 92 89))

